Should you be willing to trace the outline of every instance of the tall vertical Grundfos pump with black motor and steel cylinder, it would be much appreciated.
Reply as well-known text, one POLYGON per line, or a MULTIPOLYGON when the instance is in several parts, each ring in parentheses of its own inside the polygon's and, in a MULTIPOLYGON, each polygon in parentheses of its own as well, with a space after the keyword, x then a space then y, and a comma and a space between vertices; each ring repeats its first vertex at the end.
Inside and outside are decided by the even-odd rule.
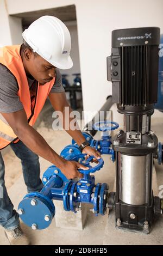
POLYGON ((116 193, 109 194, 117 228, 149 233, 161 199, 153 196, 153 154, 158 138, 151 131, 157 101, 158 27, 112 31, 112 53, 107 58, 112 100, 124 115, 124 130, 113 141, 116 157, 116 193))

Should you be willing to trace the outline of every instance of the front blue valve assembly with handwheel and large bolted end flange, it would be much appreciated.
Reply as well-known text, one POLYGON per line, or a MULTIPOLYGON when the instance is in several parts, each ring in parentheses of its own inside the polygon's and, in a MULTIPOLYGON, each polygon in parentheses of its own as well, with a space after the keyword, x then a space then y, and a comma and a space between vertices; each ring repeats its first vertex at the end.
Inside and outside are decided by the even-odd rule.
POLYGON ((96 216, 106 213, 106 203, 108 200, 108 185, 98 183, 95 185, 95 173, 103 167, 103 159, 97 159, 95 167, 90 165, 94 156, 85 159, 86 154, 77 154, 69 161, 78 161, 88 170, 79 169, 83 178, 78 181, 67 180, 61 170, 56 166, 50 166, 43 174, 45 186, 40 192, 27 194, 18 205, 18 214, 22 221, 32 229, 47 228, 55 215, 55 206, 52 200, 62 200, 65 211, 73 211, 75 214, 81 203, 93 205, 92 211, 96 216), (95 188, 95 191, 94 191, 95 188))

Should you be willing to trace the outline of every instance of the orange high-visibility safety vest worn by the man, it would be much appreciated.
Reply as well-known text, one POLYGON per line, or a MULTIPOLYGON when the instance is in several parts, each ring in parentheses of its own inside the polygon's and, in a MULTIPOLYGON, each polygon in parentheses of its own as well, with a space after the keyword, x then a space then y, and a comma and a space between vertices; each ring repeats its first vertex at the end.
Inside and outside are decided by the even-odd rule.
MULTIPOLYGON (((39 86, 35 95, 35 106, 32 111, 30 90, 27 80, 27 75, 24 70, 22 58, 20 55, 21 45, 6 46, 0 49, 0 63, 6 66, 10 72, 15 76, 18 83, 17 95, 23 104, 24 111, 26 112, 29 125, 33 126, 45 101, 53 87, 55 78, 49 83, 39 86)), ((18 138, 7 121, 0 114, 0 149, 7 147, 11 142, 17 142, 18 138)))

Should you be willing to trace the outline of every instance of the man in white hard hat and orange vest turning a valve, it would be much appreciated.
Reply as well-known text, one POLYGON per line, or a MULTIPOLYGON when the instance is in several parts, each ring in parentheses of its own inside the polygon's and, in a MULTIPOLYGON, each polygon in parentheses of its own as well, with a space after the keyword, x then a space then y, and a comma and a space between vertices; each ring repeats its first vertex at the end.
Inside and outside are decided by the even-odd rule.
MULTIPOLYGON (((64 160, 32 127, 48 96, 53 108, 61 111, 64 118, 68 103, 58 68, 70 69, 73 65, 70 33, 56 17, 43 16, 23 32, 23 39, 22 45, 1 49, 0 149, 10 144, 21 159, 27 190, 33 192, 42 188, 38 155, 55 164, 68 179, 82 177, 78 168, 87 168, 64 160)), ((82 153, 100 158, 85 142, 80 130, 67 132, 80 145, 82 153)), ((4 162, 0 153, 0 224, 11 245, 28 245, 28 237, 23 234, 13 208, 4 185, 4 162)))

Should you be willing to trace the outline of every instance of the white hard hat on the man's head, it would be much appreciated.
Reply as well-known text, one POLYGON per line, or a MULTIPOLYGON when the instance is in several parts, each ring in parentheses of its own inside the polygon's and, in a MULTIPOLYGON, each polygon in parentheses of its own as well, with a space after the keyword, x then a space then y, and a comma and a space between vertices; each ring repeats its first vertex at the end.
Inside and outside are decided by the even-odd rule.
POLYGON ((71 36, 65 24, 54 16, 42 16, 23 32, 23 39, 43 59, 59 69, 73 66, 71 36))

